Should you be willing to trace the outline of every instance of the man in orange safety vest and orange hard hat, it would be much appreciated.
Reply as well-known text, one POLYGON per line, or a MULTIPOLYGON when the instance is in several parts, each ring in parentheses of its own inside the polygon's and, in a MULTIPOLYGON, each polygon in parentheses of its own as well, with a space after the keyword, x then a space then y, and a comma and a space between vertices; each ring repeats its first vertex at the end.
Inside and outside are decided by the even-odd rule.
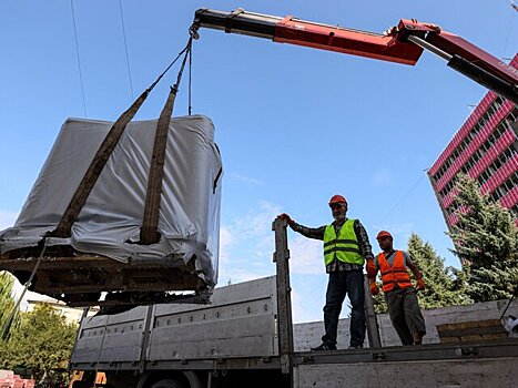
POLYGON ((425 289, 423 276, 408 253, 394 249, 390 233, 382 231, 376 236, 382 253, 374 262, 367 262, 370 294, 379 294, 376 285, 378 269, 382 273, 383 292, 388 307, 388 315, 403 345, 419 345, 426 334, 425 319, 417 302, 416 288, 425 289), (413 287, 409 268, 417 279, 413 287))

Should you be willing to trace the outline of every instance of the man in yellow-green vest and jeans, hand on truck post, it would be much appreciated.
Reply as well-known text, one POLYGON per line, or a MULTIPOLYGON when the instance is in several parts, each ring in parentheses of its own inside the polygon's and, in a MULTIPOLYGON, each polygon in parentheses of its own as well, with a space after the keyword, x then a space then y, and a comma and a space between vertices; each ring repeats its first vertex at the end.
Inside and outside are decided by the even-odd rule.
POLYGON ((303 236, 324 241, 324 262, 329 275, 324 306, 325 335, 322 344, 312 350, 336 349, 338 318, 346 295, 352 305, 349 349, 359 349, 365 339, 363 266, 366 258, 373 261, 374 256, 362 223, 346 217, 347 201, 342 195, 333 195, 328 205, 334 218, 331 225, 311 228, 295 223, 286 213, 278 217, 303 236))

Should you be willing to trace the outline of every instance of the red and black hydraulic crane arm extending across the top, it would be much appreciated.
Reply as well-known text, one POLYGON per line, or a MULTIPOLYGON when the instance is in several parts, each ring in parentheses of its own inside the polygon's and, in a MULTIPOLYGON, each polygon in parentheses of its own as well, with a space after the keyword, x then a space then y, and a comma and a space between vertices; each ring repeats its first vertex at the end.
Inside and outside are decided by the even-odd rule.
POLYGON ((243 9, 232 12, 199 9, 191 27, 194 38, 197 38, 200 28, 409 65, 416 64, 426 49, 448 61, 448 67, 518 103, 517 69, 459 35, 415 19, 402 19, 397 27, 378 34, 315 23, 292 16, 280 18, 243 9))

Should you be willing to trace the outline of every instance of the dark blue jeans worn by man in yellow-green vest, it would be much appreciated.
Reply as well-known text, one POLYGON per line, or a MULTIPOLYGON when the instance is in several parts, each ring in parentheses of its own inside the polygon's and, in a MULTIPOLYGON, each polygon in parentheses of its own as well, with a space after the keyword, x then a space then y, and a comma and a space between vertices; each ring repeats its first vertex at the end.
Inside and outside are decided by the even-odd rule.
POLYGON ((348 295, 351 305, 351 346, 363 346, 365 340, 364 275, 362 270, 341 270, 329 274, 324 306, 324 344, 336 345, 342 304, 348 295))

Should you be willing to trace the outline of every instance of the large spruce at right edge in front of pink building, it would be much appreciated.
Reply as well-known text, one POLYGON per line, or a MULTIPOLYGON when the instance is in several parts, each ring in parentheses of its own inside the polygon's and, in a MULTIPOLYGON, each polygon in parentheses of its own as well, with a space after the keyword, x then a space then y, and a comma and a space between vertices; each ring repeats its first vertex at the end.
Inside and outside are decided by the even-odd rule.
POLYGON ((454 253, 468 272, 467 294, 475 302, 510 298, 518 284, 518 228, 511 213, 481 194, 467 175, 456 183, 454 253))

